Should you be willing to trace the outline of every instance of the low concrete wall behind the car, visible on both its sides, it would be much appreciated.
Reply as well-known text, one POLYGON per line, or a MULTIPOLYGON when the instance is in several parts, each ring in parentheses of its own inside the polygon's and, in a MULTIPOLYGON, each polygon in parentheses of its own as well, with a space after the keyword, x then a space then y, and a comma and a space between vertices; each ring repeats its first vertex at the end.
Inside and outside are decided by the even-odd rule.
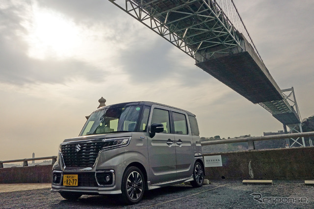
MULTIPOLYGON (((221 167, 207 167, 207 179, 314 180, 314 147, 252 150, 221 155, 221 167), (252 177, 253 178, 252 178, 252 177)), ((0 183, 51 183, 52 165, 0 168, 0 183)))

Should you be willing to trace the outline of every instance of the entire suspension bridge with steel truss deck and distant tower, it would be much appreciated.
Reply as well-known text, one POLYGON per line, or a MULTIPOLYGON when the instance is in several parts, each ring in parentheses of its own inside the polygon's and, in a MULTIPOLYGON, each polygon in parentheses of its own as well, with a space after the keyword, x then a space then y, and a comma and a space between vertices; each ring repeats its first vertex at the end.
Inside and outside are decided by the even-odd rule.
MULTIPOLYGON (((233 0, 109 0, 195 59, 195 64, 290 129, 302 132, 294 89, 270 75, 233 0)), ((295 143, 305 146, 299 138, 295 143)))

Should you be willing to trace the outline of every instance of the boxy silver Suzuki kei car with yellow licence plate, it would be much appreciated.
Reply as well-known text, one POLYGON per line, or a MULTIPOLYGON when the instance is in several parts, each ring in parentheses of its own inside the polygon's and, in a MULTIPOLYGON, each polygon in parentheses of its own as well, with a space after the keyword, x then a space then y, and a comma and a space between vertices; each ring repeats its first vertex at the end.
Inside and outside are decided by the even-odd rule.
POLYGON ((138 203, 145 190, 204 182, 195 115, 153 102, 112 104, 95 110, 79 136, 65 139, 52 168, 52 191, 65 199, 122 194, 138 203))

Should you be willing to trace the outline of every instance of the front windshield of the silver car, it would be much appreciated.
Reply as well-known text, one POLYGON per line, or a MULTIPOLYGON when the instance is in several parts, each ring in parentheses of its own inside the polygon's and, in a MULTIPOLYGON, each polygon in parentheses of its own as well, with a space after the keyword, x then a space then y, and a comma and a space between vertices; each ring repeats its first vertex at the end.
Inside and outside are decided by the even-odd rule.
POLYGON ((141 105, 101 109, 91 114, 80 136, 135 131, 141 105))

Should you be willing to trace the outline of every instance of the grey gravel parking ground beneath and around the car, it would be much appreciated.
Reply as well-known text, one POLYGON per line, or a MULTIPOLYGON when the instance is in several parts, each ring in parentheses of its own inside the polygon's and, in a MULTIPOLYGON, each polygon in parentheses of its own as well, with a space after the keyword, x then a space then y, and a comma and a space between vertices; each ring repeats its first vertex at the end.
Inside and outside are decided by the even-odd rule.
MULTIPOLYGON (((257 198, 258 199, 258 198, 257 198)), ((277 202, 287 199, 276 199, 277 202)), ((299 201, 300 202, 300 201, 299 201)), ((0 193, 0 208, 44 208, 44 209, 96 209, 96 208, 215 208, 215 209, 262 209, 262 208, 314 208, 314 187, 304 182, 274 181, 272 185, 244 185, 241 181, 212 181, 200 188, 178 184, 174 186, 147 191, 143 200, 136 205, 126 206, 121 203, 119 195, 89 196, 83 195, 77 201, 64 200, 58 193, 50 189, 35 189, 17 192, 0 193), (271 202, 275 198, 301 197, 307 203, 260 203, 250 194, 261 194, 262 201, 271 202)))

